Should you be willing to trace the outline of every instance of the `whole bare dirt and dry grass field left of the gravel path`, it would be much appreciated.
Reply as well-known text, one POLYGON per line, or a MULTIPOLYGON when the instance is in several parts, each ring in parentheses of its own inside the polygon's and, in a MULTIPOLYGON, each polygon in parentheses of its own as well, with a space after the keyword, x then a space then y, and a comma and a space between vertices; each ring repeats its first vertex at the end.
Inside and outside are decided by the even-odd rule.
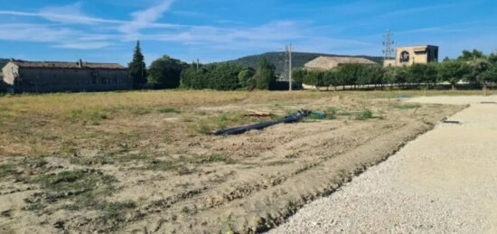
POLYGON ((259 232, 330 194, 477 92, 157 91, 0 97, 0 232, 259 232), (327 113, 240 136, 211 130, 327 113), (273 117, 245 117, 248 109, 273 117))

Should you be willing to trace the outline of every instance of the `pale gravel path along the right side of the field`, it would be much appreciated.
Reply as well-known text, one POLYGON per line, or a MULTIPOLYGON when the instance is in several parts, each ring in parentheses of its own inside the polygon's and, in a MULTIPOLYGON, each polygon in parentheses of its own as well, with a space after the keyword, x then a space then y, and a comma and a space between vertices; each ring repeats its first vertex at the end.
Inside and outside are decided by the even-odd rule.
POLYGON ((269 233, 497 233, 497 97, 410 101, 472 106, 269 233))

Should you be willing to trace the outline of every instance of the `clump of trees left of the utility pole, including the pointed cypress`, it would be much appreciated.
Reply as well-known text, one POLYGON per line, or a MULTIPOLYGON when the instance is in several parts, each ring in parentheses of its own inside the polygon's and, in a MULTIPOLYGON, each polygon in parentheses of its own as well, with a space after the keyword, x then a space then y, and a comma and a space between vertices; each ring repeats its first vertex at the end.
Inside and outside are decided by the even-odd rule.
POLYGON ((187 64, 167 55, 146 69, 139 42, 128 64, 128 74, 134 89, 273 89, 277 80, 276 67, 264 57, 256 70, 229 62, 187 64))

